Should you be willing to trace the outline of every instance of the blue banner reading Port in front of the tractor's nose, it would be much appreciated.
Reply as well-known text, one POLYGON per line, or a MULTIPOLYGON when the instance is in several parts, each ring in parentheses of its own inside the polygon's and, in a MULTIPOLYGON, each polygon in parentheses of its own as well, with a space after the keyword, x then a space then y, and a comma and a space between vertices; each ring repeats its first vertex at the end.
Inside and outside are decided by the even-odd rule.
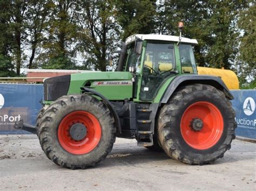
POLYGON ((0 83, 0 134, 24 133, 14 129, 19 119, 35 125, 42 99, 43 84, 0 83))

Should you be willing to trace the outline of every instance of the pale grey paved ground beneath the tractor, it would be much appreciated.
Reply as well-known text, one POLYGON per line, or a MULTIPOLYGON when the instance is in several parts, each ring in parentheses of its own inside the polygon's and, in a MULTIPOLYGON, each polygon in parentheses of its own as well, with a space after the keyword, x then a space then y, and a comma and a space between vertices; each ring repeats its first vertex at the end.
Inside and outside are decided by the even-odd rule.
POLYGON ((256 145, 234 140, 224 158, 190 166, 117 138, 95 168, 50 161, 35 135, 0 136, 0 190, 256 190, 256 145))

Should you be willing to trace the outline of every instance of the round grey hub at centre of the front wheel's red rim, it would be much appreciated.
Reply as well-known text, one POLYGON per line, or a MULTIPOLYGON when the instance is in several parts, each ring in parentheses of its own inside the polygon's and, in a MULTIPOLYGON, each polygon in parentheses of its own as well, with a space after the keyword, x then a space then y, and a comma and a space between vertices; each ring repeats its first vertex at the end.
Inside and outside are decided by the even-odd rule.
POLYGON ((70 137, 74 140, 82 140, 87 134, 86 126, 82 123, 76 123, 69 129, 70 137))

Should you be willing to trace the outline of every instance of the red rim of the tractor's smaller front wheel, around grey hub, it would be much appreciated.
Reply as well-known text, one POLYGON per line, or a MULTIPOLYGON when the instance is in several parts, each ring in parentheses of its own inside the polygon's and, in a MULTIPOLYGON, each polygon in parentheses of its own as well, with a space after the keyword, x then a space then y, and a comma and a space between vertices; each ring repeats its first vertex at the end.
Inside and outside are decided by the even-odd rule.
POLYGON ((74 111, 66 115, 59 124, 58 139, 60 145, 72 154, 91 152, 99 143, 102 129, 98 119, 86 111, 74 111), (69 135, 72 125, 81 123, 86 126, 86 136, 82 140, 73 140, 69 135))

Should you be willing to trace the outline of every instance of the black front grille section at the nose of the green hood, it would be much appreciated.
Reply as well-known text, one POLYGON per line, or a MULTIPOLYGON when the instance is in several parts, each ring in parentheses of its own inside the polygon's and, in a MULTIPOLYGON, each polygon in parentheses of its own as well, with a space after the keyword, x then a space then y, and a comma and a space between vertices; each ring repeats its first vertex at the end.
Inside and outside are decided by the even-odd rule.
POLYGON ((44 80, 44 100, 55 101, 68 94, 70 75, 51 77, 44 80))

